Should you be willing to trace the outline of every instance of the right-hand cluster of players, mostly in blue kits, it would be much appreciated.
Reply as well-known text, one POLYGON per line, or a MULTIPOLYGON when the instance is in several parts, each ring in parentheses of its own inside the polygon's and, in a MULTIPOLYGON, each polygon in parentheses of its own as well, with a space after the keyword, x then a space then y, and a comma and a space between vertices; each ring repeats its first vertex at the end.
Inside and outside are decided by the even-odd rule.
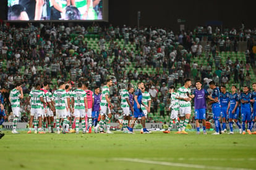
POLYGON ((190 85, 191 81, 189 79, 185 80, 184 86, 179 88, 177 93, 174 92, 175 88, 173 86, 169 87, 169 93, 171 93, 171 104, 169 106, 169 109, 171 109, 171 124, 169 125, 168 130, 164 131, 164 133, 170 133, 174 121, 178 129, 176 134, 187 134, 185 129, 191 114, 190 101, 194 98, 197 134, 200 134, 199 120, 202 120, 203 134, 207 134, 207 99, 210 100, 208 104, 211 104, 211 111, 213 113, 213 121, 216 129, 216 132, 213 133, 213 135, 227 132, 226 121, 229 121, 229 134, 234 134, 234 122, 236 122, 237 127, 239 127, 240 134, 245 134, 246 123, 248 134, 256 134, 256 132, 251 132, 256 121, 256 83, 252 84, 252 93, 249 93, 249 87, 245 86, 240 95, 237 93, 235 85, 231 87, 231 93, 229 93, 226 91, 225 86, 221 86, 219 89, 216 87, 215 82, 211 81, 209 83, 209 87, 212 90, 211 95, 207 90, 202 88, 202 83, 200 81, 195 82, 196 89, 193 94, 191 94, 189 89, 190 85), (178 113, 180 121, 178 121, 178 113), (242 117, 242 126, 239 122, 239 113, 241 113, 242 117), (220 118, 222 120, 222 128, 220 125, 220 118))

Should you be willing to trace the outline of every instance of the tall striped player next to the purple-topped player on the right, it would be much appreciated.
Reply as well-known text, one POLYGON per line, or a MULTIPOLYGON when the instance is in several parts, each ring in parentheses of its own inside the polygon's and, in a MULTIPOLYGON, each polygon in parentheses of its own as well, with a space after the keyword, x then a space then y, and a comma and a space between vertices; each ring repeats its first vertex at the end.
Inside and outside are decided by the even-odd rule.
POLYGON ((179 99, 179 114, 181 120, 181 134, 187 134, 185 131, 187 124, 189 123, 189 117, 191 114, 191 80, 186 79, 184 86, 180 87, 177 91, 177 99, 179 99), (184 121, 185 119, 185 121, 184 121))

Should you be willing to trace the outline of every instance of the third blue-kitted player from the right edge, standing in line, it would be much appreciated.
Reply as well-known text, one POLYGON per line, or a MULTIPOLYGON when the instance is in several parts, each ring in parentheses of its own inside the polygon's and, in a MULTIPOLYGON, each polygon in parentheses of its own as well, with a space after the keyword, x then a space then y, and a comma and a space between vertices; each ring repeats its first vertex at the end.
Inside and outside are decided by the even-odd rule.
POLYGON ((239 116, 239 101, 240 101, 240 96, 236 93, 236 86, 233 85, 231 87, 231 94, 229 96, 229 103, 228 103, 228 117, 229 117, 229 128, 230 132, 229 134, 232 135, 234 134, 233 132, 233 120, 236 122, 237 126, 239 127, 239 133, 242 134, 242 129, 241 129, 241 124, 237 120, 239 116))

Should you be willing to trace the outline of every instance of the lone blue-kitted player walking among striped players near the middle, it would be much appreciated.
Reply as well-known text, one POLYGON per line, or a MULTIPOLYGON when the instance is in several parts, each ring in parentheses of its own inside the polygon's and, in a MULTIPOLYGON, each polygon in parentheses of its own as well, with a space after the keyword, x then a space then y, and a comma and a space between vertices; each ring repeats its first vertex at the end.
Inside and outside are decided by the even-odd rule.
MULTIPOLYGON (((142 127, 143 127, 143 134, 150 134, 151 132, 149 132, 146 129, 145 126, 145 122, 146 122, 146 118, 145 118, 145 114, 143 114, 142 108, 141 108, 141 104, 143 104, 143 106, 145 106, 144 103, 142 103, 142 88, 144 88, 144 83, 139 82, 137 84, 138 88, 135 91, 135 96, 134 96, 134 119, 132 120, 132 123, 130 124, 130 129, 129 129, 129 134, 134 134, 134 123, 135 121, 137 121, 137 119, 139 117, 142 117, 141 122, 142 122, 142 127)), ((145 106, 146 109, 148 109, 147 106, 145 106)))

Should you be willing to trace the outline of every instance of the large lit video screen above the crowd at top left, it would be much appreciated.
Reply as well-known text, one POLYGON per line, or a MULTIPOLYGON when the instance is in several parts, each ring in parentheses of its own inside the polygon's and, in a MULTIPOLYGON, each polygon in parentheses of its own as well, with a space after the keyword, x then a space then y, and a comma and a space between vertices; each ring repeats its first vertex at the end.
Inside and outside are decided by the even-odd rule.
POLYGON ((103 20, 108 11, 105 2, 108 0, 8 0, 7 20, 103 20))

